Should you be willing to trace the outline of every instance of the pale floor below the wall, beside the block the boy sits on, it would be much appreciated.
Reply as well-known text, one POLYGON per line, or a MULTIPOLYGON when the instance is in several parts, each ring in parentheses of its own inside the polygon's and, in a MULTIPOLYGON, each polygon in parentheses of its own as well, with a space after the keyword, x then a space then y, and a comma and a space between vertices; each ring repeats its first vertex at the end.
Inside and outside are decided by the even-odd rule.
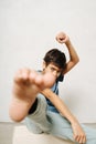
MULTIPOLYGON (((90 127, 96 127, 96 124, 86 124, 86 125, 88 125, 90 127)), ((13 132, 14 132, 14 128, 19 127, 19 126, 22 127, 22 126, 24 126, 24 124, 22 124, 22 123, 0 123, 0 144, 14 144, 12 141, 13 132)), ((62 144, 62 142, 61 142, 61 144, 62 144)), ((68 144, 68 143, 66 143, 66 144, 68 144)))

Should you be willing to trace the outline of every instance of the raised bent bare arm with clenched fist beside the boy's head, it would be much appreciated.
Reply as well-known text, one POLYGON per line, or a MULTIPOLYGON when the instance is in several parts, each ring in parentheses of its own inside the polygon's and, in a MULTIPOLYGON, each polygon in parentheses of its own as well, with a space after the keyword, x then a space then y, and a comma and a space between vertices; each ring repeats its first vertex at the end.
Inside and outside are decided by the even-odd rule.
POLYGON ((70 53, 70 61, 66 63, 66 68, 64 70, 64 74, 65 74, 78 63, 79 58, 68 38, 68 35, 66 35, 64 32, 60 32, 56 35, 56 41, 61 44, 65 44, 68 50, 68 53, 70 53))

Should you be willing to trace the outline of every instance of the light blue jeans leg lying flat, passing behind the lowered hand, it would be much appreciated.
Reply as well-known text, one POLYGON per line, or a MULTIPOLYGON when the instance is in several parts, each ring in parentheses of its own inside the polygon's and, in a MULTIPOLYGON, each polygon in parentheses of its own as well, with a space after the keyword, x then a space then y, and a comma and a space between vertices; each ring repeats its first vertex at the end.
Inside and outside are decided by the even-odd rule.
MULTIPOLYGON (((52 124, 50 134, 78 144, 73 138, 72 126, 66 119, 62 117, 58 113, 53 112, 47 112, 47 117, 50 123, 52 124)), ((82 124, 82 126, 86 133, 86 144, 96 144, 96 130, 90 128, 84 124, 82 124)))

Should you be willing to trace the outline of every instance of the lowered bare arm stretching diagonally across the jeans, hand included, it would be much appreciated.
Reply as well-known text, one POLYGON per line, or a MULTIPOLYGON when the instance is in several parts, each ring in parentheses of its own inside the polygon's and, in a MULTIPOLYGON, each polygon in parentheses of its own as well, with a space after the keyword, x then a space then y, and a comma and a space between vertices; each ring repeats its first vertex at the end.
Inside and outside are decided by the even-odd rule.
POLYGON ((72 125, 73 128, 73 136, 76 142, 85 143, 86 142, 86 135, 81 127, 81 124, 76 120, 76 117, 71 113, 68 107, 65 105, 65 103, 58 97, 55 93, 53 93, 50 89, 46 89, 41 92, 45 97, 47 97, 54 106, 58 110, 58 112, 62 114, 62 116, 66 117, 68 122, 72 125))

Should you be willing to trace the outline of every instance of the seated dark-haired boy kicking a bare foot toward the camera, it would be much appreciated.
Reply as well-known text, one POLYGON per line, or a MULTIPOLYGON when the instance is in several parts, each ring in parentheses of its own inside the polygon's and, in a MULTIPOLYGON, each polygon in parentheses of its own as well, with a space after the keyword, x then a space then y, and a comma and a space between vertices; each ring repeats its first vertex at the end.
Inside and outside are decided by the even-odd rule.
POLYGON ((65 43, 70 61, 66 62, 63 52, 52 49, 44 56, 42 71, 19 70, 14 76, 10 116, 17 122, 25 119, 28 128, 33 133, 44 132, 74 143, 95 144, 96 130, 81 125, 58 97, 58 82, 79 59, 68 35, 60 32, 56 41, 65 43))

